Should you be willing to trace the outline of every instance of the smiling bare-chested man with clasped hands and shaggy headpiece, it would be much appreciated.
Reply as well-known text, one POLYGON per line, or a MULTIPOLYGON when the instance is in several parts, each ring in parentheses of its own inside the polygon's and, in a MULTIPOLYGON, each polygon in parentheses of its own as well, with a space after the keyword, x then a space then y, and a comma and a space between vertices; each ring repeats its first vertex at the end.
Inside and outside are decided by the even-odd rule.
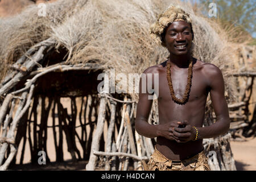
POLYGON ((168 49, 170 57, 143 72, 152 73, 152 88, 154 74, 159 74, 159 125, 147 122, 152 100, 148 99, 150 93, 141 92, 142 80, 139 84, 135 129, 145 137, 157 138, 144 169, 210 170, 203 138, 226 133, 230 124, 222 73, 215 65, 191 56, 191 18, 179 7, 171 6, 160 14, 151 34, 168 49), (203 127, 208 94, 217 119, 213 125, 203 127))

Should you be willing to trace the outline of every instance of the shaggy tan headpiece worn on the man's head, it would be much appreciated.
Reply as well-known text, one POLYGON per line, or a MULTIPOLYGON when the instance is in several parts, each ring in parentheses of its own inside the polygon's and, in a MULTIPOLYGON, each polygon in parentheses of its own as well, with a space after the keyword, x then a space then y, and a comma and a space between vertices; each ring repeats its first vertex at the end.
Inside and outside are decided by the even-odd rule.
MULTIPOLYGON (((159 45, 166 47, 162 40, 162 34, 164 30, 170 26, 172 22, 183 20, 189 24, 191 24, 191 18, 189 14, 185 13, 180 6, 173 6, 171 5, 168 7, 163 14, 158 15, 158 20, 151 25, 150 27, 150 35, 155 40, 156 43, 159 45)), ((193 30, 191 25, 191 32, 193 37, 193 30)))

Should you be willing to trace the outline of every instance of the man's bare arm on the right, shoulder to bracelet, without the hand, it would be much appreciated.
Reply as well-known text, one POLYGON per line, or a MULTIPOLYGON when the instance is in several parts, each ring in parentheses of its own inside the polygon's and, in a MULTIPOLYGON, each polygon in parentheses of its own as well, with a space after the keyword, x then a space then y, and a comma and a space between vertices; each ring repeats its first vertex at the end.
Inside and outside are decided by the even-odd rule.
POLYGON ((228 104, 225 100, 225 86, 222 73, 215 65, 210 64, 207 68, 207 75, 209 77, 210 99, 214 113, 216 114, 216 122, 210 126, 199 127, 199 139, 213 138, 218 135, 225 134, 229 130, 230 119, 228 104))

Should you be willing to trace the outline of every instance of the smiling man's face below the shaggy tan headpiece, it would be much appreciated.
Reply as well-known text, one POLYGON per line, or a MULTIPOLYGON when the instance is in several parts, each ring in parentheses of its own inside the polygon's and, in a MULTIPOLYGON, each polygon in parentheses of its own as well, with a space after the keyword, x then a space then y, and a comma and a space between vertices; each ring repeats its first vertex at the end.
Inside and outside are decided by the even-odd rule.
POLYGON ((191 26, 185 21, 171 23, 164 38, 166 47, 174 55, 189 53, 192 43, 191 26))

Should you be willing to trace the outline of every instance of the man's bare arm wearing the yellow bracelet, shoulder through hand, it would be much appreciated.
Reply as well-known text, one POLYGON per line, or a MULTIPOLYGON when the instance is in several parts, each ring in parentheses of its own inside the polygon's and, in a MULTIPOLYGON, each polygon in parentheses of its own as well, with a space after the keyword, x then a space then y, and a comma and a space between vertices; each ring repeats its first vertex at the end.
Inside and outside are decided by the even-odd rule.
MULTIPOLYGON (((214 138, 221 134, 225 134, 229 130, 230 119, 228 104, 225 100, 224 79, 220 69, 213 64, 208 64, 205 68, 205 75, 208 77, 208 86, 210 87, 210 99, 214 113, 216 114, 216 122, 210 126, 197 127, 199 131, 198 139, 214 138)), ((174 128, 174 136, 177 137, 178 143, 189 142, 195 139, 196 131, 187 121, 180 121, 180 125, 187 125, 184 128, 174 128)))

